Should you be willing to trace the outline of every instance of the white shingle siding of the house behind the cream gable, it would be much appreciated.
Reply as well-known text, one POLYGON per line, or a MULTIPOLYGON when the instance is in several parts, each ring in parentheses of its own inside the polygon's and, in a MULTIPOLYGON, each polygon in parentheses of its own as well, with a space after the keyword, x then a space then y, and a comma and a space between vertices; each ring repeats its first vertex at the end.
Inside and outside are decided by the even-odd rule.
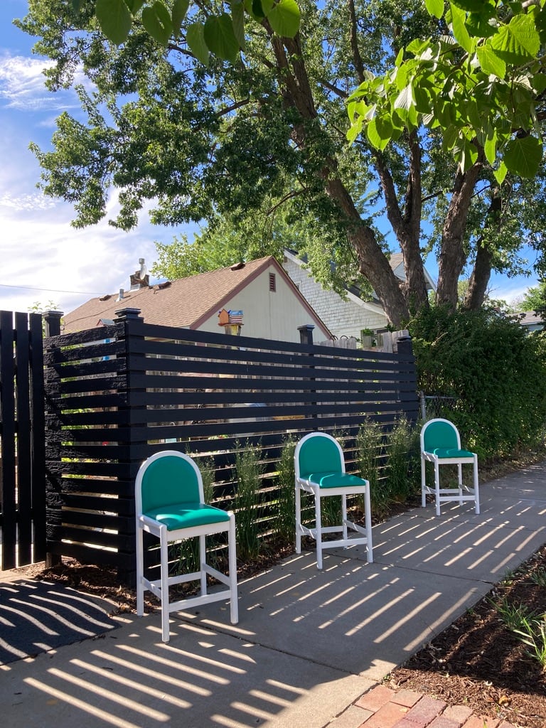
MULTIPOLYGON (((370 328, 372 331, 386 328, 387 316, 379 306, 360 301, 351 293, 348 294, 347 301, 344 301, 339 293, 325 290, 304 268, 291 261, 290 258, 285 258, 283 267, 309 304, 338 339, 341 336, 355 336, 360 339, 360 332, 363 328, 370 328)), ((314 340, 319 341, 317 336, 314 336, 314 340)))

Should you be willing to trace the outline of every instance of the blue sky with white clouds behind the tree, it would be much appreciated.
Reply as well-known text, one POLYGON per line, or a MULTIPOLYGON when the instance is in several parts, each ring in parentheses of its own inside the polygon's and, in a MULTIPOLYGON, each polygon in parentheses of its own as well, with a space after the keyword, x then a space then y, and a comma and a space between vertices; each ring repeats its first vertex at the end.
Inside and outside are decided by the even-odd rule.
MULTIPOLYGON (((40 168, 28 144, 48 149, 55 118, 65 110, 76 114, 79 103, 71 91, 45 89, 41 70, 47 61, 32 54, 33 39, 12 25, 27 7, 27 0, 0 0, 0 309, 27 311, 51 301, 69 312, 92 296, 128 288, 138 259, 148 266, 154 261, 154 240, 170 242, 181 232, 191 239, 192 229, 159 228, 143 214, 130 233, 106 221, 76 230, 71 205, 36 189, 40 168)), ((115 197, 110 206, 115 212, 115 197)), ((437 276, 434 261, 427 269, 437 276)), ((491 296, 510 300, 536 282, 534 276, 495 276, 491 296)))

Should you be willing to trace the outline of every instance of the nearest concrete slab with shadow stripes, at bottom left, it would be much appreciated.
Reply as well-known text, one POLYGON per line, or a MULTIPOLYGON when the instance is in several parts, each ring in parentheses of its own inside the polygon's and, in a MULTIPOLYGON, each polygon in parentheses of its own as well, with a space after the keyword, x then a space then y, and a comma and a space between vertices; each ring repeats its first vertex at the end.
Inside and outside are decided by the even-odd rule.
POLYGON ((365 678, 159 614, 21 660, 1 674, 2 722, 25 728, 320 728, 372 686, 365 678))

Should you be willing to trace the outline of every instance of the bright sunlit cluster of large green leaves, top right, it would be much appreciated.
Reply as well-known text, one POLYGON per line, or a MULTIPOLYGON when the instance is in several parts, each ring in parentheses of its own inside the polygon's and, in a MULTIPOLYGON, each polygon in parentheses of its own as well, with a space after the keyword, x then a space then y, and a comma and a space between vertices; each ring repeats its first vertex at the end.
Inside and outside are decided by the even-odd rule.
POLYGON ((534 176, 542 161, 546 3, 427 0, 440 34, 400 49, 349 99, 349 140, 363 130, 385 149, 404 130, 440 128, 462 170, 483 154, 501 183, 534 176), (445 23, 445 32, 442 25, 445 23))

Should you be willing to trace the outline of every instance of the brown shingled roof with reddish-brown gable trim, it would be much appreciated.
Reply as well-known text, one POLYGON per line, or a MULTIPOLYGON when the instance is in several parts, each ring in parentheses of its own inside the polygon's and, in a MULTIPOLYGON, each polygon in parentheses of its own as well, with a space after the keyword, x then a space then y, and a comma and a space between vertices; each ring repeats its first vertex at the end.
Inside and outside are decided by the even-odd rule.
POLYGON ((273 256, 259 258, 245 264, 228 266, 188 278, 167 281, 149 287, 127 290, 119 300, 117 293, 91 298, 64 317, 64 331, 84 331, 100 325, 101 319, 114 319, 116 311, 123 308, 141 309, 141 316, 147 323, 164 326, 199 328, 211 315, 217 313, 229 299, 245 288, 248 283, 269 266, 274 266, 288 281, 294 294, 309 309, 314 320, 322 326, 314 310, 309 306, 288 274, 273 256))

